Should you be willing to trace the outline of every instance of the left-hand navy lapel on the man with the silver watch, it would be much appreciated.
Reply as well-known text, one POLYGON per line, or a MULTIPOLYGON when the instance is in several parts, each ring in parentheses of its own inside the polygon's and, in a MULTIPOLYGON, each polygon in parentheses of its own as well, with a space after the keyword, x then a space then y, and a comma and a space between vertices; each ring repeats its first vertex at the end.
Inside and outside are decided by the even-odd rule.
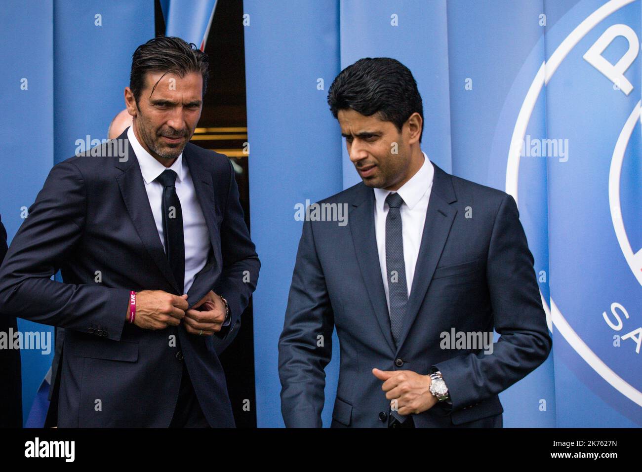
POLYGON ((352 204, 354 207, 348 218, 352 242, 361 270, 361 276, 368 291, 372 310, 379 322, 379 328, 391 351, 395 351, 386 293, 381 278, 379 250, 377 250, 376 232, 374 229, 374 191, 365 185, 361 186, 360 197, 352 204))

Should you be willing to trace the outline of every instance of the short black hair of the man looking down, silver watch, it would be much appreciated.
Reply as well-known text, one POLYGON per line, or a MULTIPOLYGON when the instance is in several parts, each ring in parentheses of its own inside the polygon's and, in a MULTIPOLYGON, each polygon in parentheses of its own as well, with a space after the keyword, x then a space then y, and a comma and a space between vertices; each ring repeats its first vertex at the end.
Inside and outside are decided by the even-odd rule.
POLYGON ((421 116, 424 134, 424 107, 417 82, 410 69, 389 57, 366 57, 341 71, 327 94, 327 103, 337 118, 339 110, 352 109, 363 116, 379 113, 401 132, 414 112, 421 116))

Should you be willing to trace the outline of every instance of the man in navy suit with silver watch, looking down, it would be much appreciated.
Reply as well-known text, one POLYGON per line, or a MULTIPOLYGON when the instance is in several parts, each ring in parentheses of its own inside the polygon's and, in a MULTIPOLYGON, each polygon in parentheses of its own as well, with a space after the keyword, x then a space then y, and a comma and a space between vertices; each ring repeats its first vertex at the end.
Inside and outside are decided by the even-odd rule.
POLYGON ((501 427, 498 393, 551 349, 515 200, 429 161, 399 61, 346 67, 328 103, 363 182, 320 202, 347 204, 347 226, 303 224, 279 339, 286 426, 321 426, 336 326, 331 426, 501 427))

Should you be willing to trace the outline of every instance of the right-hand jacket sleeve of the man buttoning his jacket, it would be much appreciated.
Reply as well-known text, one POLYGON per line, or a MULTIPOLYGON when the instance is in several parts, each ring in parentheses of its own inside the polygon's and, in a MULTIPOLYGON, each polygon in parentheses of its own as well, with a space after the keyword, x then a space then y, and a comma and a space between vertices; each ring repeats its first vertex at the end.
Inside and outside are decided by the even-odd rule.
POLYGON ((250 295, 256 290, 261 262, 245 224, 243 207, 239 201, 238 185, 232 162, 229 163, 230 183, 221 222, 221 253, 223 269, 214 284, 214 292, 222 295, 230 310, 230 321, 214 335, 217 352, 222 352, 234 340, 241 323, 241 313, 247 308, 250 295))

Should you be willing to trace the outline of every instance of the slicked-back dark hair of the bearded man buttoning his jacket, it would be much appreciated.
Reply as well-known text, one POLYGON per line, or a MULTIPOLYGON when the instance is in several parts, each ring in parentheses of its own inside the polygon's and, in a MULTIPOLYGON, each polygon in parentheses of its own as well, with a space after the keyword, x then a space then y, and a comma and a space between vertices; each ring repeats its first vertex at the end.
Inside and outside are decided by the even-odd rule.
MULTIPOLYGON (((129 88, 132 89, 136 103, 145 87, 145 74, 148 72, 174 73, 180 77, 192 72, 200 73, 203 76, 205 95, 209 58, 193 42, 188 44, 173 36, 158 36, 141 44, 132 55, 132 72, 129 76, 129 88)), ((154 84, 152 93, 156 85, 157 83, 154 84)))

